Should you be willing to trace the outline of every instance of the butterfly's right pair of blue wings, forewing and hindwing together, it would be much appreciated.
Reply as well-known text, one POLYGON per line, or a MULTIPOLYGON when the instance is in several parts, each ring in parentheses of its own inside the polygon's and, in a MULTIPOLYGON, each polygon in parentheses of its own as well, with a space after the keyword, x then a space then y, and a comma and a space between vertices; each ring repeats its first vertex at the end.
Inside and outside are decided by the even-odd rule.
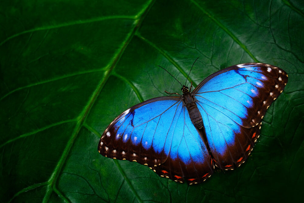
POLYGON ((261 119, 287 81, 278 67, 247 63, 216 72, 194 89, 217 167, 232 170, 244 163, 259 137, 261 119))

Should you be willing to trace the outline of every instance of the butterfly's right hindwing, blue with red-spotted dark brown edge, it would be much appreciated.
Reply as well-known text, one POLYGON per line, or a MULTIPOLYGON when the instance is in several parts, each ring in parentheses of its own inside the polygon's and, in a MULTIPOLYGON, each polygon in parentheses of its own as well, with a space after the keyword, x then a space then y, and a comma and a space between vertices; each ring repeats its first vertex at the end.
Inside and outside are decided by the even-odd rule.
POLYGON ((223 170, 240 166, 249 156, 260 133, 258 124, 244 128, 219 110, 198 102, 204 131, 215 165, 223 170))

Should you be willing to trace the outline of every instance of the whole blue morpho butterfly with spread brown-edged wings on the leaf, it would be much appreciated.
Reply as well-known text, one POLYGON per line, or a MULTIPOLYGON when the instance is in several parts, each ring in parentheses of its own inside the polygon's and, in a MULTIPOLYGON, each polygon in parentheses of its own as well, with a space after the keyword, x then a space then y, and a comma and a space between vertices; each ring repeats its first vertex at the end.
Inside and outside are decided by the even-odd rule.
POLYGON ((267 108, 287 80, 285 71, 263 63, 225 68, 193 92, 192 85, 184 85, 183 95, 157 97, 127 109, 106 128, 98 151, 147 165, 161 177, 201 183, 214 166, 233 170, 245 162, 267 108))

